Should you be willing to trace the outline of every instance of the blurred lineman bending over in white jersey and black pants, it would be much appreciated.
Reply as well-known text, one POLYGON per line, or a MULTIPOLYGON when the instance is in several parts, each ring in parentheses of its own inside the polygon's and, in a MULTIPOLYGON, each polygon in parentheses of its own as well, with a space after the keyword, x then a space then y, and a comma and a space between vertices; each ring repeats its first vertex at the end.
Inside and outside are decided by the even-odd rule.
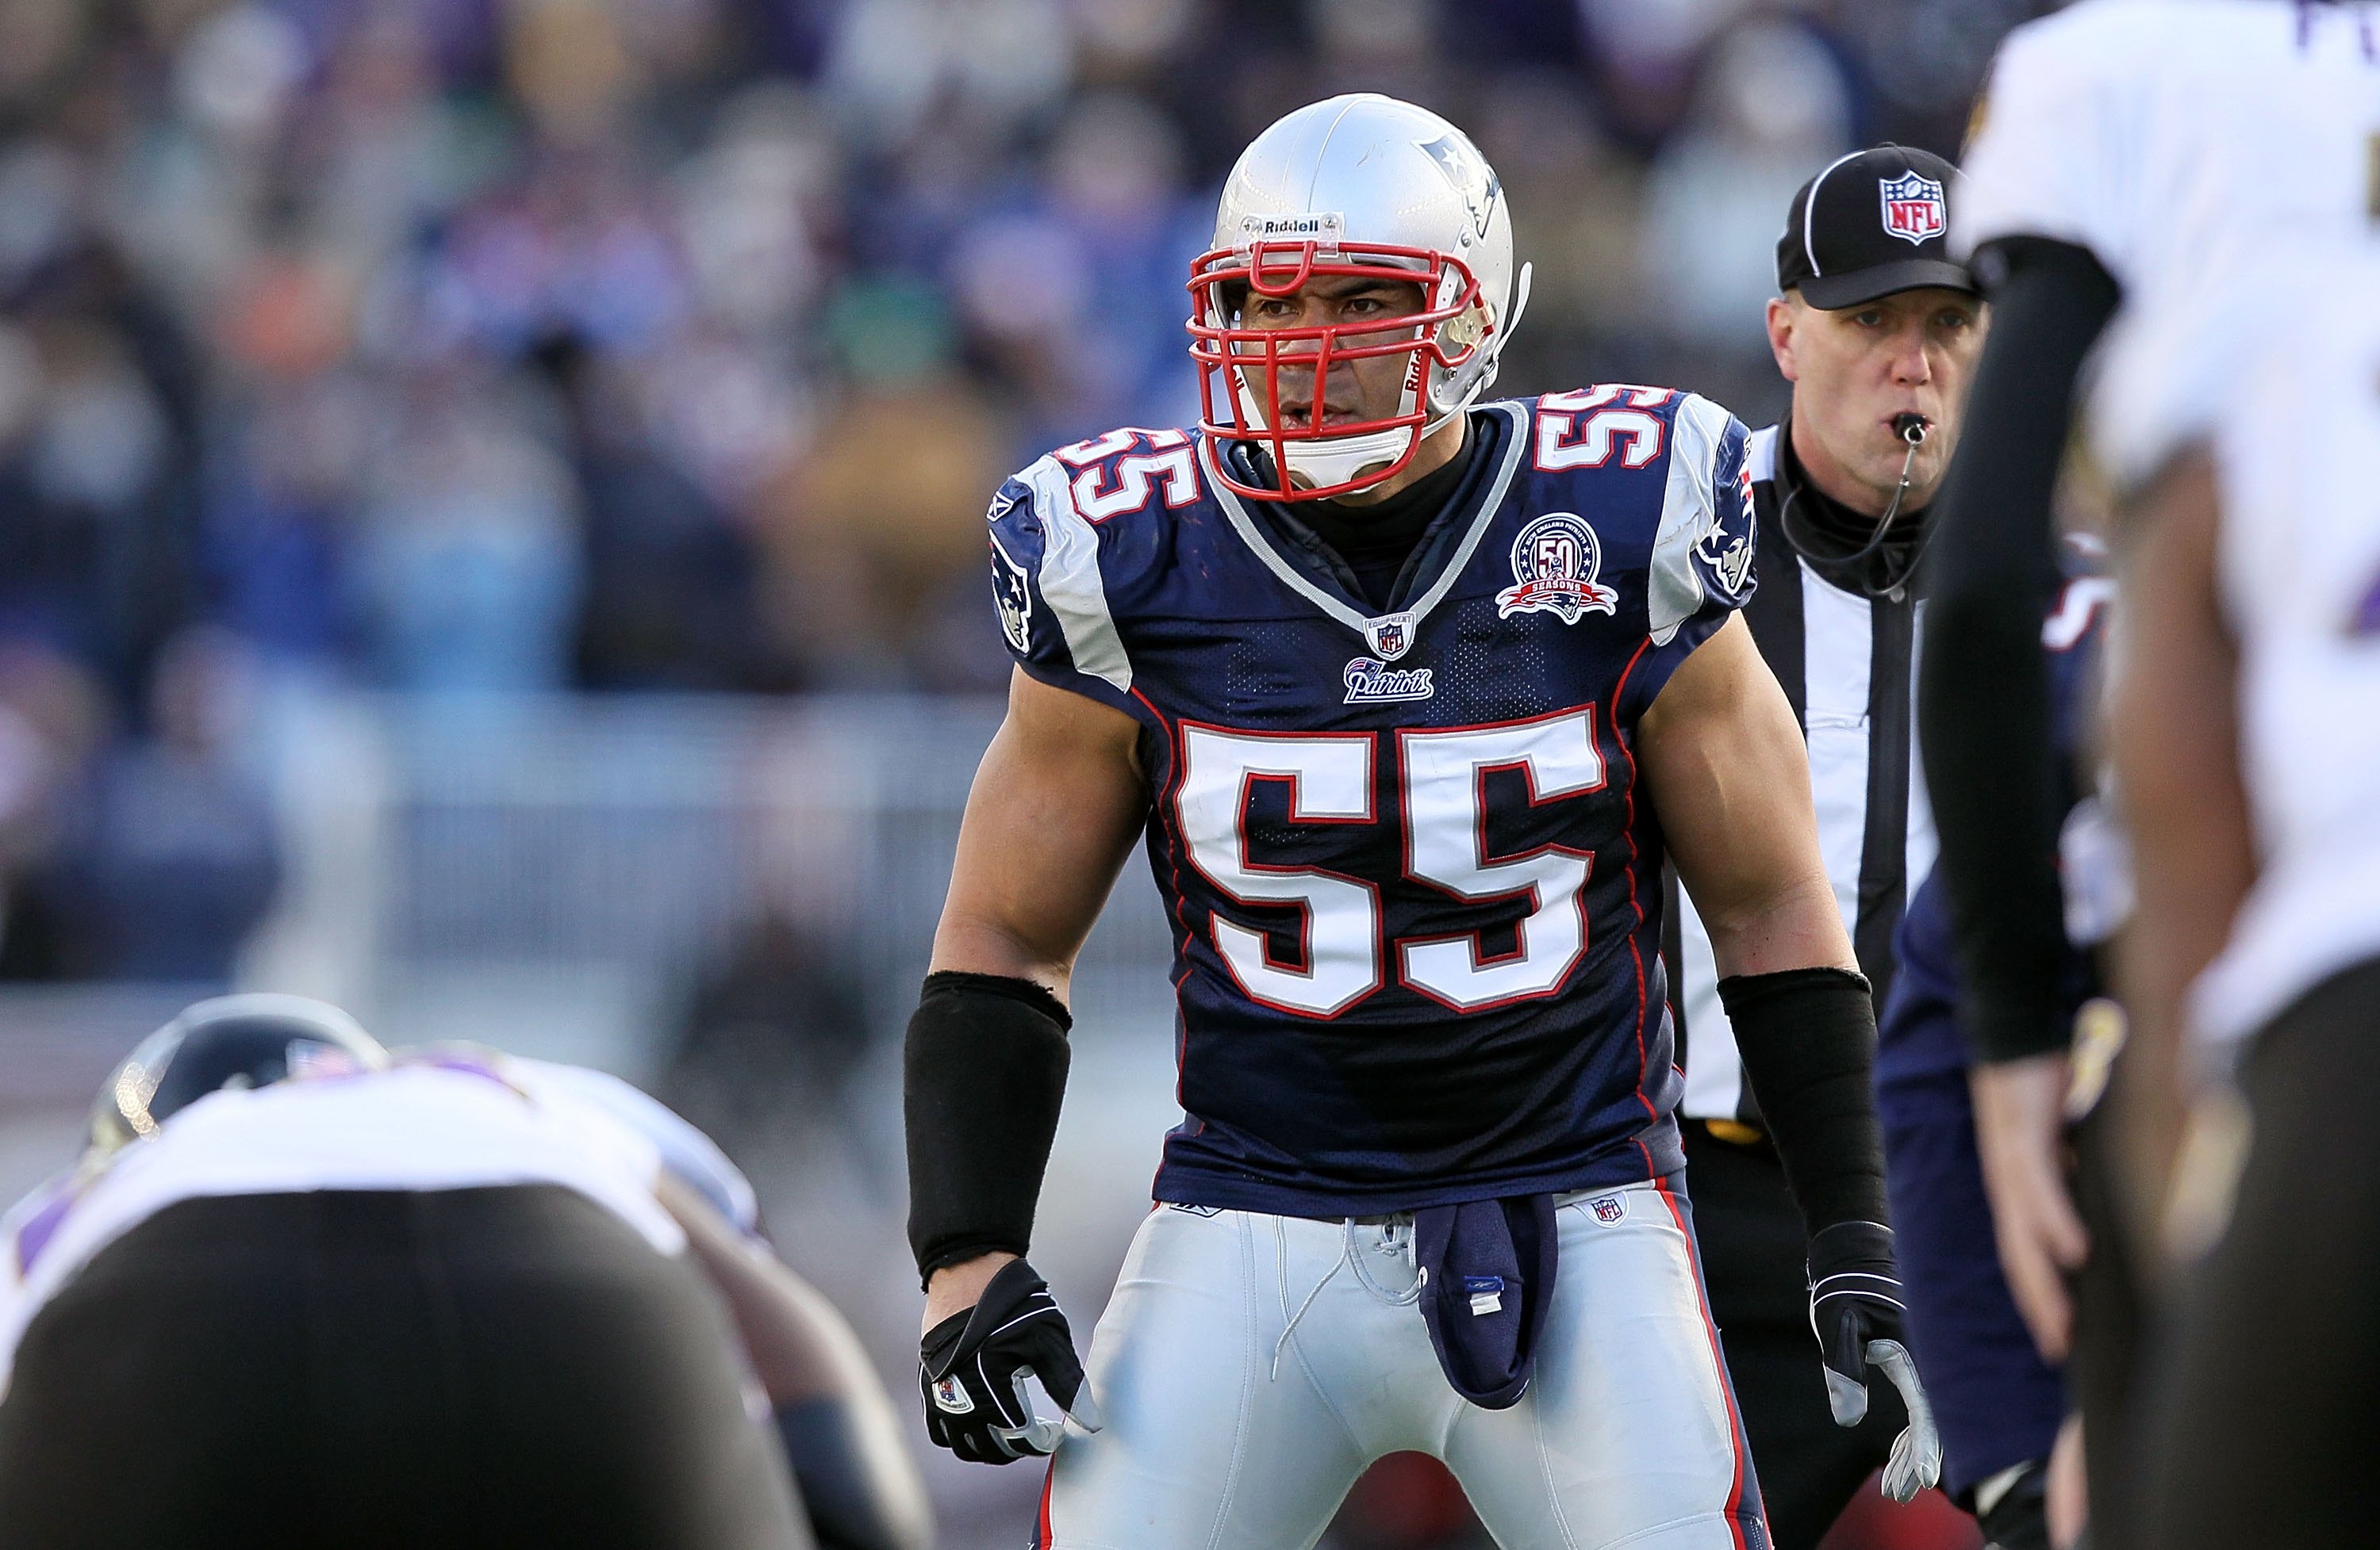
POLYGON ((745 1179, 597 1072, 202 1001, 5 1234, 12 1548, 931 1533, 881 1384, 745 1179))

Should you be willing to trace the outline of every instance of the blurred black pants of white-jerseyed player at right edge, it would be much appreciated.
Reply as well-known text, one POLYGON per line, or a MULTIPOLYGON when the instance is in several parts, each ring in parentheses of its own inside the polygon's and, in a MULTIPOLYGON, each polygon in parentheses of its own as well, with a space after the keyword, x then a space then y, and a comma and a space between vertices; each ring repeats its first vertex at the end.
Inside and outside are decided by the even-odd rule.
POLYGON ((2240 1067, 2230 1227, 2156 1381, 2147 1543, 2380 1545, 2380 958, 2280 1013, 2240 1067))

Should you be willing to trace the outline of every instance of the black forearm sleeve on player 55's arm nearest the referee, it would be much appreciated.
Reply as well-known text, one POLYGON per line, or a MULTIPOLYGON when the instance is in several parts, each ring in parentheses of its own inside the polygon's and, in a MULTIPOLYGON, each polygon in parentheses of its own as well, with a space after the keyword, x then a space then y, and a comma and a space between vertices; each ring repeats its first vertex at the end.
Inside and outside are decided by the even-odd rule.
POLYGON ((1718 1001, 1809 1234, 1890 1222, 1868 979, 1837 968, 1733 975, 1718 1001))

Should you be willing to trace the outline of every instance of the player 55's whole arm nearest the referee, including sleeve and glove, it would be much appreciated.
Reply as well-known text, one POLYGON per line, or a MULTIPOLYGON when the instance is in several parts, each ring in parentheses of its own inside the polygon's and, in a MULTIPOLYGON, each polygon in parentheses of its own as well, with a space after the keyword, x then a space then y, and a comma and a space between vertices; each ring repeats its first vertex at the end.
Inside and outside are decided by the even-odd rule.
POLYGON ((1825 880, 1802 727, 1740 613, 1661 685, 1637 718, 1635 754, 1678 880, 1711 932, 1718 998, 1809 1229, 1828 1403, 1840 1424, 1859 1424, 1871 1362, 1902 1391, 1909 1426, 1885 1491, 1909 1500, 1940 1479, 1942 1441, 1902 1346, 1871 1084, 1875 1006, 1825 880))

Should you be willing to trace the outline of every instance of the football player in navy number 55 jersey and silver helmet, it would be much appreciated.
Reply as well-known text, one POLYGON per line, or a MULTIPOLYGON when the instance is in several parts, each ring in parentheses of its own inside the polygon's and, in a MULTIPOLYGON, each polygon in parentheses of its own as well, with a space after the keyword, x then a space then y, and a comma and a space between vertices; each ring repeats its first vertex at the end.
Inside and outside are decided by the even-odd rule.
POLYGON ((909 1025, 909 1231, 928 1431, 1054 1453, 1038 1545, 1311 1545, 1395 1450, 1504 1545, 1766 1540, 1680 1182, 1664 858, 1804 1212, 1811 1360, 1852 1419, 1904 1386, 1887 1488, 1935 1476, 1868 984, 1735 618, 1745 430, 1668 387, 1488 402, 1526 285, 1461 131, 1297 109, 1192 264, 1202 423, 992 502, 1016 673, 909 1025), (1185 1120, 1085 1376, 1021 1255, 1135 842, 1185 1120))

